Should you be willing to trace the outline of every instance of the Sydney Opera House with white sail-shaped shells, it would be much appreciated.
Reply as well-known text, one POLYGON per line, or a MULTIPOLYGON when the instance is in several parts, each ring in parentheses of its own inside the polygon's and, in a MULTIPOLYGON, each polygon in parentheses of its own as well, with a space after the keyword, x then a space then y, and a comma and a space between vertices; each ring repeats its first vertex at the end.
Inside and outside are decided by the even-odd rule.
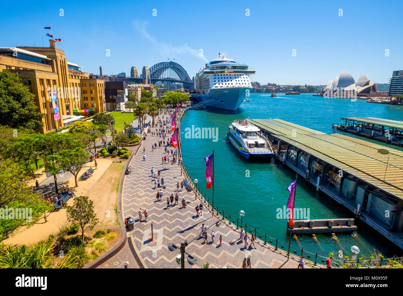
POLYGON ((355 82, 349 73, 341 71, 340 76, 329 80, 323 89, 323 93, 331 93, 340 97, 343 97, 343 93, 353 92, 357 95, 376 92, 376 83, 370 83, 364 74, 361 74, 357 82, 355 82))

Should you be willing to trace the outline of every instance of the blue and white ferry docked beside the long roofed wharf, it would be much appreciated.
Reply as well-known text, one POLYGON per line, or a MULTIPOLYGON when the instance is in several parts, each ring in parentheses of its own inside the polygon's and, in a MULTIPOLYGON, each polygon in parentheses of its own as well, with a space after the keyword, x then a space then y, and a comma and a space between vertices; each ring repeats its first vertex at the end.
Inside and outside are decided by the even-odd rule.
POLYGON ((228 130, 227 138, 246 159, 251 156, 273 157, 269 140, 248 120, 234 120, 228 130))

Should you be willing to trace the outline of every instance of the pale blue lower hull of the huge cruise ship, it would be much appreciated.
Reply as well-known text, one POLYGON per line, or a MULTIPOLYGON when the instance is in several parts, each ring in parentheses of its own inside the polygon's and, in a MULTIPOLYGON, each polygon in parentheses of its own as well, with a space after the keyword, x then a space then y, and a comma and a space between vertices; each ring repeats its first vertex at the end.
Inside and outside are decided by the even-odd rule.
POLYGON ((196 93, 195 98, 209 107, 235 111, 251 89, 251 87, 212 88, 205 93, 196 93))

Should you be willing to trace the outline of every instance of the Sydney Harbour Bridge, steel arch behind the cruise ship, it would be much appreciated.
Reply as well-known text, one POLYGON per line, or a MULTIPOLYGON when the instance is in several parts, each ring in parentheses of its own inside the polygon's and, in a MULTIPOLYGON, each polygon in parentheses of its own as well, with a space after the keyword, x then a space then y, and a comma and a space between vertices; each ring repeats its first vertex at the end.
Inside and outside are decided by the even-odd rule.
MULTIPOLYGON (((192 79, 187 74, 186 70, 178 63, 175 62, 160 62, 155 64, 148 69, 149 77, 147 72, 140 75, 139 78, 130 78, 129 81, 141 82, 142 79, 149 80, 151 83, 169 82, 169 83, 182 83, 185 88, 194 88, 194 83, 192 79), (138 81, 137 81, 138 80, 138 81)), ((148 81, 147 81, 148 82, 148 81)))

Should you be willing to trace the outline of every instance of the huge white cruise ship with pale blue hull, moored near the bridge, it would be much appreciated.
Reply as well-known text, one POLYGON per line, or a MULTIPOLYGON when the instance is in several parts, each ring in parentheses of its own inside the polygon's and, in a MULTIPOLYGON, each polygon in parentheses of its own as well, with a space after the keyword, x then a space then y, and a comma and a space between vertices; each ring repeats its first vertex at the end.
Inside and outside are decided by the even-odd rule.
POLYGON ((226 53, 206 64, 195 77, 195 98, 205 106, 235 111, 252 89, 247 64, 226 58, 226 53))

